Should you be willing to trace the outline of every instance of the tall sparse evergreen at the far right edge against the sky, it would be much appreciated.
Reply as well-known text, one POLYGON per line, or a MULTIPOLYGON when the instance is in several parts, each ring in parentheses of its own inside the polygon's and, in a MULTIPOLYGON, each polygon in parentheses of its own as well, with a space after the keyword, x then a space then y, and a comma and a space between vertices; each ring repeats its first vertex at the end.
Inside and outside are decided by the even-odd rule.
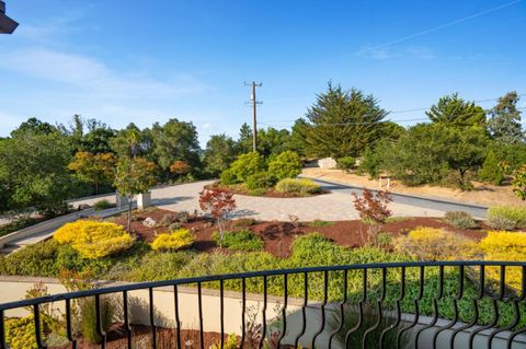
POLYGON ((512 91, 499 98, 490 112, 488 128, 491 136, 505 143, 519 143, 525 135, 521 125, 521 110, 517 109, 517 92, 512 91))

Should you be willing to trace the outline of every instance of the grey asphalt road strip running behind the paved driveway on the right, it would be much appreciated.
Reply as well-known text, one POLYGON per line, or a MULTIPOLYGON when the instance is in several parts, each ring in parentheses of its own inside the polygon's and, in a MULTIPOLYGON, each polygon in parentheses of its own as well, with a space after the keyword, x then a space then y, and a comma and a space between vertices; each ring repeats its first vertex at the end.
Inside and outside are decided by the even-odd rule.
MULTIPOLYGON (((331 190, 334 193, 348 194, 355 193, 356 195, 362 194, 362 187, 356 187, 352 185, 338 184, 333 182, 327 182, 321 179, 311 178, 315 182, 319 183, 323 189, 331 190)), ((376 191, 376 190, 373 190, 376 191)), ((415 197, 404 194, 395 194, 391 193, 392 201, 397 203, 412 205, 422 208, 439 210, 439 211, 466 211, 477 218, 485 218, 485 212, 488 210, 484 206, 471 205, 448 201, 439 198, 425 198, 425 197, 415 197)))

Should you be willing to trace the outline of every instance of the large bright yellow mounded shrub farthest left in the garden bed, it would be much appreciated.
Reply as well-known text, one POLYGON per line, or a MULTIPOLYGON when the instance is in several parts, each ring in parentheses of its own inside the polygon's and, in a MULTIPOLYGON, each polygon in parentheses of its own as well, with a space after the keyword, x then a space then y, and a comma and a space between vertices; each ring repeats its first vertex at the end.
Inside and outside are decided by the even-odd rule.
POLYGON ((96 259, 127 249, 134 237, 123 226, 111 222, 76 221, 53 235, 60 244, 71 244, 84 258, 96 259))

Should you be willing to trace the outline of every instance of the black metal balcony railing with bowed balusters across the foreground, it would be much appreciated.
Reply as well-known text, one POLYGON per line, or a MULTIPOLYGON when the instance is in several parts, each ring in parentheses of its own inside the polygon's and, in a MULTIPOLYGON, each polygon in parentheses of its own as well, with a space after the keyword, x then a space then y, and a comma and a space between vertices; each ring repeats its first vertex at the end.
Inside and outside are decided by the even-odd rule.
MULTIPOLYGON (((119 319, 123 346, 134 345, 130 322, 130 292, 146 290, 148 322, 144 324, 151 348, 188 348, 182 337, 181 289, 194 288, 198 329, 193 346, 205 348, 206 322, 217 322, 218 348, 227 342, 226 319, 238 317, 236 330, 239 348, 523 348, 526 341, 526 263, 513 261, 437 261, 364 264, 286 270, 265 270, 208 276, 158 282, 142 282, 91 289, 0 304, 0 348, 7 342, 5 321, 15 309, 31 309, 34 337, 38 348, 46 348, 42 306, 64 304, 61 326, 71 348, 79 346, 81 333, 75 328, 76 304, 93 298, 95 330, 100 347, 106 348, 108 336, 103 326, 103 298, 122 303, 119 319), (171 341, 162 345, 164 328, 156 323, 155 291, 173 292, 174 328, 171 341), (210 318, 204 310, 204 291, 215 291, 219 316, 210 318), (240 312, 225 306, 225 292, 238 291, 240 312), (253 294, 261 306, 261 321, 248 321, 248 301, 253 294), (268 303, 278 304, 278 316, 268 318, 268 303), (276 303, 276 299, 279 302, 276 303), (262 303, 262 304, 261 304, 262 303), (254 334, 258 331, 258 334, 254 334)), ((4 290, 0 290, 4 292, 4 290)), ((209 293, 207 293, 209 295, 209 293)), ((235 296, 229 293, 230 298, 235 296)), ((184 304, 187 306, 188 304, 184 304)))

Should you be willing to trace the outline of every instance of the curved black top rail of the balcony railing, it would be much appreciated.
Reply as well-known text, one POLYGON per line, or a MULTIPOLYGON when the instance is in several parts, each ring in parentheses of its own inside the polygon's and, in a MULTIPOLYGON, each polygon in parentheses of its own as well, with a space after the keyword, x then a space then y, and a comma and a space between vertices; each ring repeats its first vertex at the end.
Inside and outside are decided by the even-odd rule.
POLYGON ((115 287, 100 288, 83 290, 77 292, 67 292, 58 293, 48 296, 35 298, 30 300, 22 300, 16 302, 9 302, 0 304, 0 311, 5 311, 10 309, 32 306, 43 303, 52 303, 66 300, 75 300, 84 296, 93 296, 100 294, 117 293, 124 291, 136 291, 150 288, 160 288, 168 286, 179 286, 179 284, 191 284, 191 283, 203 283, 210 281, 219 280, 232 280, 232 279, 248 279, 256 277, 268 277, 268 276, 283 276, 283 275, 294 275, 294 274, 305 274, 305 272, 319 272, 319 271, 343 271, 343 270, 359 270, 359 269, 382 269, 382 268, 413 268, 413 267, 458 267, 458 266, 507 266, 507 267, 526 267, 526 261, 506 261, 506 260, 447 260, 447 261, 401 261, 401 263, 373 263, 373 264, 354 264, 354 265, 338 265, 338 266, 323 266, 323 267, 307 267, 307 268, 295 268, 295 269, 274 269, 274 270, 261 270, 261 271, 250 271, 250 272, 239 272, 239 274, 226 274, 226 275, 214 275, 205 277, 194 277, 194 278, 184 278, 184 279, 173 279, 164 281, 148 281, 148 282, 138 282, 122 284, 115 287))

